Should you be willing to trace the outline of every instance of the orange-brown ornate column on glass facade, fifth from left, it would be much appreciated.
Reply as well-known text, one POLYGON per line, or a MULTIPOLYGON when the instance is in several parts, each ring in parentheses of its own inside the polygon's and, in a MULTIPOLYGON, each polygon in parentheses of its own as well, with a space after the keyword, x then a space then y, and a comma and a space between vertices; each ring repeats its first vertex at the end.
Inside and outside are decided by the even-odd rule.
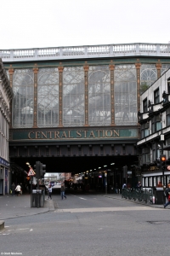
MULTIPOLYGON (((111 61, 112 62, 112 61, 111 61)), ((115 125, 115 96, 114 96, 114 70, 115 65, 111 64, 111 126, 115 125)))

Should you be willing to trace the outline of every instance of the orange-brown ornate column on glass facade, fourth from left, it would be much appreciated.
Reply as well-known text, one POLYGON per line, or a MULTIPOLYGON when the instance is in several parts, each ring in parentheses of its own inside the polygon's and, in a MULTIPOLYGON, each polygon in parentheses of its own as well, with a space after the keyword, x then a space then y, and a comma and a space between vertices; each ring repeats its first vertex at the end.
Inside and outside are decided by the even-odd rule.
POLYGON ((88 68, 89 66, 86 64, 84 65, 84 98, 85 98, 85 106, 84 106, 84 113, 85 113, 85 124, 84 126, 89 126, 88 124, 88 68))

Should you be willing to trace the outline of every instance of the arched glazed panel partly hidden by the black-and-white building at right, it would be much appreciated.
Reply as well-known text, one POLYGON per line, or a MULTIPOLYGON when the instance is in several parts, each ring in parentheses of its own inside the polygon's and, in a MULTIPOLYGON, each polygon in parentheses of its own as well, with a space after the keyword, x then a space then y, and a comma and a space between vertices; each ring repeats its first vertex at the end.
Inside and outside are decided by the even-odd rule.
POLYGON ((140 67, 140 83, 149 87, 157 79, 156 65, 142 64, 140 67))

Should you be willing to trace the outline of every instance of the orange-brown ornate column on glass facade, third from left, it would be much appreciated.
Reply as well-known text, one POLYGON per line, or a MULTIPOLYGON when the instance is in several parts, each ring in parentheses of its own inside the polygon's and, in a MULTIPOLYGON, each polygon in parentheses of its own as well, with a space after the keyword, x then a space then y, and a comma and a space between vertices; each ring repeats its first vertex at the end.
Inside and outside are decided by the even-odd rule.
POLYGON ((63 127, 63 70, 64 67, 59 66, 59 127, 63 127))

